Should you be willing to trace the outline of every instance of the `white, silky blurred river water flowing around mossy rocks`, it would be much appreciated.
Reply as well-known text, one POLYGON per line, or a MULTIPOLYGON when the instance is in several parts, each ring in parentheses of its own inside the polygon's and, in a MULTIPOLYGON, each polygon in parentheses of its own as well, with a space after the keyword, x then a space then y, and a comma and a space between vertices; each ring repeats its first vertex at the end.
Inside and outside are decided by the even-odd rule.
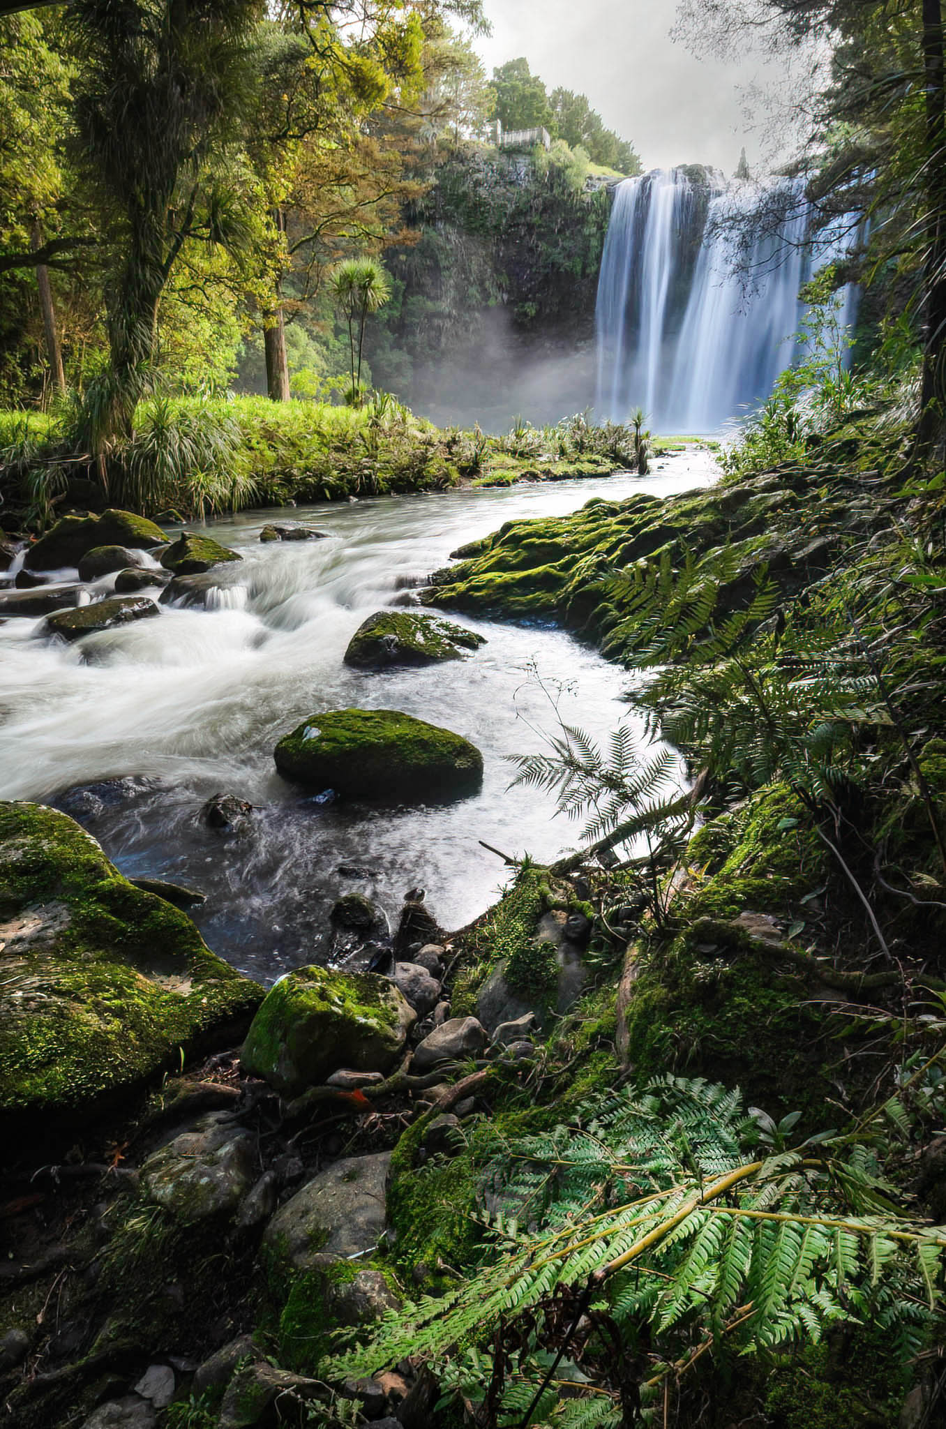
MULTIPOLYGON (((712 459, 693 450, 646 479, 294 510, 294 522, 329 534, 320 542, 262 546, 262 512, 211 523, 244 560, 224 567, 229 583, 207 609, 161 606, 160 619, 73 646, 44 637, 43 622, 0 624, 0 797, 54 800, 123 873, 203 890, 193 916, 210 946, 266 982, 326 956, 329 910, 343 893, 364 893, 393 920, 420 885, 440 922, 459 927, 503 882, 480 839, 552 859, 577 836, 553 819, 547 796, 509 790, 506 756, 543 747, 559 686, 562 716, 603 736, 626 714, 627 674, 539 624, 452 616, 489 643, 463 662, 383 673, 344 666, 347 642, 374 610, 410 602, 456 546, 506 520, 712 479, 712 459), (482 792, 446 806, 370 807, 286 783, 273 766, 277 739, 349 706, 404 710, 467 736, 484 755, 482 792), (201 822, 219 790, 257 806, 243 836, 201 822)), ((111 582, 96 583, 93 599, 111 582)))

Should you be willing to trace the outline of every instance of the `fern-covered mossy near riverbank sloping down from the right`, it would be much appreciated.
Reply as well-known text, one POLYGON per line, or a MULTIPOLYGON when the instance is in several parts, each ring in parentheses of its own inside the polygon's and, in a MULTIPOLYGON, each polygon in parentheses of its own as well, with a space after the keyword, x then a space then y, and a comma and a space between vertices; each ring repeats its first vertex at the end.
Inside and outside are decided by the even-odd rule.
MULTIPOLYGON (((512 520, 443 567, 430 603, 567 622, 633 666, 692 795, 559 730, 523 773, 567 797, 577 769, 590 847, 519 859, 454 936, 406 905, 417 1022, 386 1065, 300 1072, 324 1013, 289 979, 242 1069, 221 1047, 84 1127, 41 1210, 16 1206, 24 1160, 4 1393, 26 1429, 456 1429, 536 1393, 536 1423, 639 1400, 713 1429, 935 1422, 939 506, 877 477, 870 426, 839 440, 512 520)), ((334 1000, 353 1056, 366 996, 334 1000)))

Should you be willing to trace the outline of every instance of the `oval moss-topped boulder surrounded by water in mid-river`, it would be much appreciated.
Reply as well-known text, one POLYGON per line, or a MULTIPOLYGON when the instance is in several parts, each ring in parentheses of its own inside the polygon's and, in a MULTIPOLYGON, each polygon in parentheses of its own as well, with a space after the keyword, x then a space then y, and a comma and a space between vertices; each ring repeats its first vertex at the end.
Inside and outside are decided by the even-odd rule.
POLYGON ((460 735, 397 710, 313 714, 274 750, 276 767, 353 799, 462 797, 483 782, 483 756, 460 735))

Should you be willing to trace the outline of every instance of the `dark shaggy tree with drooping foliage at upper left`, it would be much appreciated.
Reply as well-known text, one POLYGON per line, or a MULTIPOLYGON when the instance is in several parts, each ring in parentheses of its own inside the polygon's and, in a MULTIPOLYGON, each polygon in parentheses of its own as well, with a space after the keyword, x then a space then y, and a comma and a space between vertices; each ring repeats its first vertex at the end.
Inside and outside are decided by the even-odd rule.
POLYGON ((161 296, 189 240, 252 244, 231 157, 260 0, 76 0, 81 156, 114 224, 110 373, 87 407, 93 449, 131 432, 161 296))

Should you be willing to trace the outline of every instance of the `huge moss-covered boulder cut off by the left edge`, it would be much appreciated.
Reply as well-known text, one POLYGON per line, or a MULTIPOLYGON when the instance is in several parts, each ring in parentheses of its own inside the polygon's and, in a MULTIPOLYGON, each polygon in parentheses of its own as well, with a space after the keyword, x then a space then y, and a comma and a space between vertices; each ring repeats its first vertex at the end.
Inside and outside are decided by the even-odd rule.
POLYGON ((0 803, 0 1112, 93 1113, 262 997, 67 815, 0 803))

